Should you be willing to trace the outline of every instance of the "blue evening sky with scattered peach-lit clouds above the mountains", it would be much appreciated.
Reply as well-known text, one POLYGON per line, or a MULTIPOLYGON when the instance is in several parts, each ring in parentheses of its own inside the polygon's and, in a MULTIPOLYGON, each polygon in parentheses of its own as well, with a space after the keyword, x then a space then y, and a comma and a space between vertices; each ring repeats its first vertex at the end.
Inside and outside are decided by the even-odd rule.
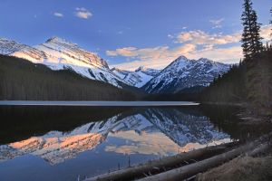
MULTIPOLYGON (((252 0, 269 40, 272 0, 252 0)), ((98 53, 111 67, 161 69, 180 55, 242 57, 243 0, 0 0, 0 37, 36 45, 53 36, 98 53)))

